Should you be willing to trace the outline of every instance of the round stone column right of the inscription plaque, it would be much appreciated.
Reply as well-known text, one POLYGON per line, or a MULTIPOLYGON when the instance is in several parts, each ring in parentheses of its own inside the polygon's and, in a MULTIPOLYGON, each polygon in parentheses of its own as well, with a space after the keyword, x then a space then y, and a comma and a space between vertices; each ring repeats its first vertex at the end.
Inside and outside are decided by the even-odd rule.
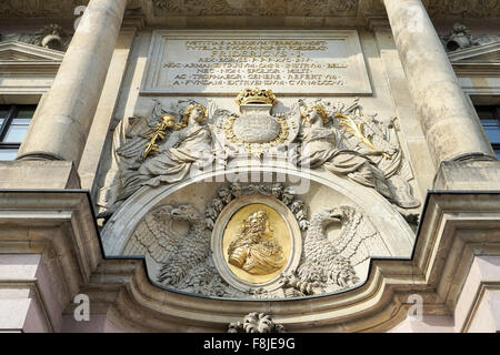
POLYGON ((434 164, 494 153, 421 0, 384 0, 434 164))

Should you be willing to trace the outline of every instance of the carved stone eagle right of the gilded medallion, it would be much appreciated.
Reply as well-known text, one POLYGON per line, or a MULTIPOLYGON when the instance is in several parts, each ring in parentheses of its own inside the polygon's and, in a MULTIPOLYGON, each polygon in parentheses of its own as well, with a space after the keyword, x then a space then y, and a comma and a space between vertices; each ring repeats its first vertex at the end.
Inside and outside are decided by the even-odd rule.
POLYGON ((297 272, 283 275, 286 296, 349 288, 360 281, 356 272, 358 265, 370 255, 384 255, 387 252, 379 232, 358 209, 347 205, 323 209, 310 220, 297 272), (334 241, 326 232, 332 223, 341 226, 334 241))

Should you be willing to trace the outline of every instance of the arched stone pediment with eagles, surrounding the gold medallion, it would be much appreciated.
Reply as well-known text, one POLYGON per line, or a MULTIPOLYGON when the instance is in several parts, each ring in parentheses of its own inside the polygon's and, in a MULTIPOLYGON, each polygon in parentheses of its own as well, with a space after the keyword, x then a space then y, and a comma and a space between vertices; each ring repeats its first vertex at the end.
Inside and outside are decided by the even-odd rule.
MULTIPOLYGON (((414 242, 413 232, 396 207, 371 189, 332 176, 324 171, 298 171, 276 166, 259 168, 260 173, 269 173, 270 176, 273 176, 272 181, 258 184, 239 183, 239 186, 243 186, 243 190, 248 185, 252 185, 251 189, 270 186, 267 190, 269 193, 251 191, 243 192, 241 196, 232 196, 227 205, 228 209, 222 209, 222 213, 216 220, 216 227, 211 230, 206 224, 206 216, 209 215, 207 211, 213 199, 218 196, 218 191, 228 186, 229 183, 226 179, 234 178, 237 173, 241 178, 251 172, 256 173, 256 169, 248 166, 216 171, 191 176, 177 184, 156 189, 149 186, 140 189, 114 213, 102 231, 106 255, 108 257, 146 255, 148 277, 153 284, 167 290, 188 293, 194 297, 193 300, 198 300, 193 302, 206 302, 204 297, 207 296, 214 300, 271 298, 278 301, 338 293, 357 288, 366 282, 371 257, 410 257, 414 242), (307 185, 300 185, 301 182, 307 183, 307 185), (281 189, 294 186, 298 193, 293 201, 300 201, 307 206, 304 213, 308 215, 309 225, 304 226, 302 231, 298 226, 300 219, 293 216, 293 209, 290 207, 287 212, 287 205, 279 200, 282 200, 282 196, 276 199, 272 195, 271 187, 276 186, 277 183, 281 184, 281 189), (233 287, 234 280, 238 277, 231 275, 228 265, 223 264, 223 255, 227 251, 217 250, 214 241, 221 241, 228 221, 241 206, 266 203, 266 199, 277 201, 274 204, 269 204, 272 207, 284 206, 281 210, 277 209, 277 211, 288 225, 296 225, 290 230, 293 241, 291 244, 294 247, 292 247, 292 255, 287 258, 287 266, 283 268, 282 275, 277 273, 270 283, 257 283, 254 287, 248 284, 249 291, 244 292, 244 287, 238 287, 238 285, 233 287), (239 201, 242 201, 240 206, 239 201), (189 214, 186 214, 182 220, 176 219, 176 214, 171 212, 186 205, 198 213, 193 221, 188 221, 189 214), (331 224, 327 223, 323 232, 313 231, 311 223, 319 219, 322 211, 334 209, 343 211, 344 215, 338 215, 339 220, 332 221, 331 224), (348 213, 351 214, 348 215, 348 213), (224 221, 222 225, 219 223, 221 220, 224 221), (199 226, 197 226, 197 223, 199 226), (190 233, 198 233, 197 236, 201 236, 199 243, 192 242, 194 244, 189 244, 191 243, 190 237, 192 237, 190 233), (352 235, 346 236, 349 233, 352 235), (321 243, 333 247, 333 253, 334 247, 338 247, 339 257, 342 256, 341 260, 349 264, 346 266, 346 271, 332 268, 329 265, 320 265, 326 267, 323 272, 330 276, 323 284, 321 282, 314 284, 312 281, 314 277, 321 278, 321 275, 314 274, 317 272, 314 267, 318 265, 311 266, 312 268, 309 270, 304 266, 308 258, 316 257, 314 247, 311 245, 317 242, 310 242, 313 237, 324 239, 321 243), (356 241, 357 237, 359 241, 356 241), (309 250, 312 247, 309 254, 307 254, 308 245, 309 250), (188 258, 191 262, 196 257, 199 257, 199 260, 190 265, 184 265, 186 260, 183 261, 182 257, 176 257, 176 254, 182 254, 183 257, 187 257, 186 255, 193 250, 198 250, 199 253, 194 252, 188 258), (169 265, 177 265, 176 263, 179 267, 186 267, 187 270, 181 273, 178 280, 169 278, 166 281, 166 275, 173 277, 169 274, 169 265), (223 272, 224 270, 226 272, 223 272), (340 277, 339 275, 343 275, 344 272, 350 272, 352 277, 340 277), (212 280, 212 283, 197 286, 193 283, 197 282, 198 275, 204 275, 206 278, 212 280), (228 275, 232 277, 232 281, 228 275), (271 287, 268 287, 269 284, 271 284, 271 287), (203 298, 200 298, 200 296, 203 298)), ((289 206, 291 206, 291 203, 289 203, 289 206)), ((338 263, 338 260, 336 263, 338 263)), ((246 284, 244 280, 241 285, 243 284, 246 284)))

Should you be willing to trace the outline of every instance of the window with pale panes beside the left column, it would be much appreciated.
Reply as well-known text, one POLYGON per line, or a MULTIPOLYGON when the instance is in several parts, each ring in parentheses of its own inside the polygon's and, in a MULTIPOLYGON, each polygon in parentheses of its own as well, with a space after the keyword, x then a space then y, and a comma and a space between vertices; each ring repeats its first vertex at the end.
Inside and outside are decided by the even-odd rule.
POLYGON ((0 160, 14 160, 36 105, 0 105, 0 160))

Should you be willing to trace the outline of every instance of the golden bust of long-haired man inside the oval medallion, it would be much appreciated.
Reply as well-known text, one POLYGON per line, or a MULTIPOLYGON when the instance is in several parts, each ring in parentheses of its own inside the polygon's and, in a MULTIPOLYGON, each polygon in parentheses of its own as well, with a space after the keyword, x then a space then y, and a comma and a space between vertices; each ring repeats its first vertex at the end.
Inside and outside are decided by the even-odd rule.
POLYGON ((280 270, 286 258, 273 232, 266 211, 252 212, 228 247, 228 262, 251 275, 268 275, 280 270))

